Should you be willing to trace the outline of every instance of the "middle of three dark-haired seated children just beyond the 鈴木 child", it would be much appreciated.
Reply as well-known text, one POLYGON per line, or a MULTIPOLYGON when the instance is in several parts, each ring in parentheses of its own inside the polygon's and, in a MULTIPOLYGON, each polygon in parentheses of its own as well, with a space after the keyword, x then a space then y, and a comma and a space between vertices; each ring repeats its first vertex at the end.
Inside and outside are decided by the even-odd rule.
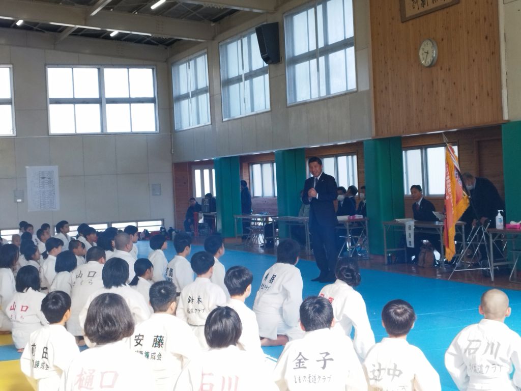
POLYGON ((192 250, 192 237, 180 232, 173 238, 173 247, 177 255, 172 258, 166 267, 166 279, 171 281, 177 288, 178 296, 181 290, 194 281, 194 272, 187 256, 192 250))

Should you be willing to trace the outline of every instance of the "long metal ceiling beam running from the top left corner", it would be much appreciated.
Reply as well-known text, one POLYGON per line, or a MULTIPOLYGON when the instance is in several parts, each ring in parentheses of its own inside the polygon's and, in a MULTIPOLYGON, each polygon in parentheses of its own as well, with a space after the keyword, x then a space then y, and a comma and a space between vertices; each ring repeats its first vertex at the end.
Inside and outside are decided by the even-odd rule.
POLYGON ((27 0, 0 0, 0 16, 13 19, 95 30, 118 30, 195 41, 209 41, 215 35, 215 28, 206 22, 105 10, 100 10, 96 15, 90 16, 89 12, 92 12, 91 7, 66 6, 27 0))

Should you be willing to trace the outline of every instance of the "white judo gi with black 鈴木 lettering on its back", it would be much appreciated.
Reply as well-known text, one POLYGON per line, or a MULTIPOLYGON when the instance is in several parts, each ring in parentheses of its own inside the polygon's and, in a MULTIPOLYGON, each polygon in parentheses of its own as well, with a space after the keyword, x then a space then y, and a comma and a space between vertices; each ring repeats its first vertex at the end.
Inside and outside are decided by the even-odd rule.
POLYGON ((226 295, 209 278, 197 277, 181 291, 176 314, 190 325, 203 348, 208 347, 204 337, 206 318, 218 306, 226 306, 226 295))

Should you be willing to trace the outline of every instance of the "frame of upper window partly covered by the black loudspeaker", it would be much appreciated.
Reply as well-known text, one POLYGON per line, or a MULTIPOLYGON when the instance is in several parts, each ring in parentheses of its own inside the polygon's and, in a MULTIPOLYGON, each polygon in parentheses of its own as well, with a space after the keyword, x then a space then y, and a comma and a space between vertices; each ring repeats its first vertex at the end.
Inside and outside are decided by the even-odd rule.
MULTIPOLYGON (((250 115, 267 113, 267 112, 271 111, 271 89, 270 89, 270 85, 269 85, 269 82, 270 82, 270 80, 269 80, 269 65, 264 63, 264 60, 262 60, 262 62, 264 63, 262 68, 258 68, 258 69, 255 69, 255 70, 252 70, 252 71, 248 71, 248 72, 244 71, 244 54, 243 54, 242 40, 246 36, 253 36, 253 35, 256 35, 255 27, 252 28, 252 29, 249 29, 249 30, 245 30, 242 33, 239 33, 239 34, 234 35, 234 36, 232 36, 232 37, 230 37, 230 38, 228 38, 228 39, 226 39, 224 41, 219 42, 219 77, 220 77, 220 87, 221 87, 221 114, 222 114, 222 121, 223 122, 231 120, 231 119, 237 119, 237 118, 247 117, 247 116, 250 116, 250 115), (229 43, 236 42, 236 41, 238 41, 240 43, 240 47, 241 47, 241 64, 238 64, 238 67, 240 69, 242 69, 242 74, 238 75, 238 76, 233 76, 231 78, 224 79, 223 78, 224 77, 224 71, 228 70, 228 67, 226 67, 226 69, 224 69, 224 65, 227 64, 227 59, 226 59, 227 56, 223 56, 221 48, 225 47, 229 43), (264 72, 264 69, 266 69, 266 72, 264 72), (268 77, 268 82, 267 82, 267 87, 268 87, 268 94, 267 95, 268 96, 265 96, 265 100, 266 100, 266 103, 267 103, 268 107, 264 108, 264 109, 261 109, 261 110, 258 110, 258 111, 251 111, 251 112, 247 113, 246 112, 246 89, 245 89, 246 81, 253 80, 256 77, 263 76, 263 75, 266 75, 268 77), (243 99, 243 102, 242 102, 242 106, 244 108, 245 113, 244 114, 239 114, 239 115, 236 115, 236 116, 233 116, 233 117, 232 116, 228 116, 227 117, 225 115, 225 101, 228 101, 229 97, 226 96, 227 94, 225 93, 224 87, 228 87, 230 85, 235 84, 233 81, 237 81, 237 80, 240 80, 240 84, 242 84, 242 86, 243 86, 244 99, 243 99)), ((255 42, 255 43, 258 46, 258 43, 257 42, 255 42)), ((259 50, 259 52, 260 52, 260 50, 259 50)), ((252 45, 251 45, 251 43, 249 45, 248 59, 249 59, 249 63, 252 64, 252 45)), ((266 88, 266 85, 265 85, 265 88, 266 88)), ((240 87, 239 87, 239 90, 240 90, 240 87)), ((255 95, 255 93, 254 93, 253 89, 250 89, 250 105, 254 105, 255 104, 255 101, 253 99, 254 95, 255 95)), ((228 111, 230 111, 229 107, 226 107, 226 109, 228 111)))

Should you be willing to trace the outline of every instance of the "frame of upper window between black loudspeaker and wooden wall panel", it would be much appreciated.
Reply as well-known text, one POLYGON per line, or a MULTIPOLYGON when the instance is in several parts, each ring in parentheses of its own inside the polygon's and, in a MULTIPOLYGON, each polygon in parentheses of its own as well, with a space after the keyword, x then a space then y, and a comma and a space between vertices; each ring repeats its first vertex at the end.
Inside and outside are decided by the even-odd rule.
MULTIPOLYGON (((318 5, 322 5, 322 29, 324 30, 324 41, 326 41, 327 39, 327 7, 325 7, 325 4, 327 3, 328 0, 315 0, 313 2, 310 2, 310 3, 307 3, 307 4, 304 4, 300 7, 296 7, 296 8, 293 8, 291 9, 290 11, 288 11, 287 13, 284 13, 283 14, 283 24, 284 24, 284 44, 286 46, 286 53, 285 53, 285 60, 286 60, 286 102, 287 102, 287 107, 291 107, 291 106, 294 106, 294 105, 299 105, 299 104, 303 104, 303 103, 308 103, 308 102, 314 102, 314 101, 318 101, 318 100, 321 100, 321 99, 327 99, 327 98, 330 98, 330 97, 334 97, 334 96, 339 96, 339 95, 343 95, 343 94, 350 94, 350 93, 354 93, 354 92, 357 92, 358 91, 358 71, 357 71, 357 64, 356 64, 356 49, 355 49, 355 43, 356 43, 356 38, 355 38, 355 22, 354 22, 354 2, 353 0, 343 0, 343 1, 351 1, 351 9, 353 10, 353 36, 352 37, 349 37, 349 38, 345 38, 341 41, 337 41, 337 42, 334 42, 334 43, 331 43, 331 44, 324 44, 324 46, 322 47, 319 47, 319 40, 318 40, 318 13, 317 13, 317 7, 318 5), (302 13, 303 11, 308 11, 310 9, 315 9, 315 12, 314 12, 314 16, 315 16, 315 45, 316 45, 316 48, 314 50, 310 50, 308 52, 305 52, 305 53, 301 53, 301 54, 298 54, 296 56, 289 56, 292 51, 293 51, 293 47, 291 44, 289 44, 288 42, 288 39, 287 39, 287 34, 292 34, 293 33, 293 20, 292 20, 292 16, 293 15, 296 15, 296 14, 299 14, 299 13, 302 13), (337 53, 338 51, 340 51, 341 49, 343 50, 346 50, 348 48, 351 48, 353 47, 353 51, 354 51, 354 79, 355 79, 355 88, 353 89, 347 89, 345 91, 339 91, 339 92, 334 92, 334 93, 328 93, 327 91, 330 90, 330 71, 329 71, 329 55, 332 54, 332 53, 337 53), (325 86, 326 86, 326 93, 321 96, 320 95, 320 57, 324 56, 324 82, 325 82, 325 86), (301 63, 304 63, 306 61, 309 61, 309 60, 313 60, 315 59, 316 60, 316 63, 317 63, 317 73, 318 73, 318 78, 317 78, 317 90, 318 90, 318 96, 317 97, 310 97, 309 99, 305 99, 305 100, 302 100, 302 101, 293 101, 293 102, 290 102, 290 96, 291 93, 290 93, 290 83, 292 82, 293 85, 291 86, 291 88, 293 89, 293 91, 295 91, 295 86, 296 86, 296 78, 294 77, 294 68, 290 69, 291 66, 296 66, 297 64, 301 64, 301 63)), ((344 28, 345 28, 345 25, 344 25, 344 28)), ((309 35, 309 29, 308 29, 308 35, 309 35)), ((347 68, 347 58, 345 58, 345 65, 346 65, 346 68, 347 68)), ((310 74, 311 74, 311 71, 310 71, 310 74)), ((345 70, 345 75, 346 75, 346 87, 347 86, 347 80, 348 80, 348 69, 345 70)), ((311 84, 310 84, 311 86, 311 84)), ((311 94, 310 94, 311 95, 311 94)), ((295 96, 295 99, 296 99, 296 96, 295 96)))

